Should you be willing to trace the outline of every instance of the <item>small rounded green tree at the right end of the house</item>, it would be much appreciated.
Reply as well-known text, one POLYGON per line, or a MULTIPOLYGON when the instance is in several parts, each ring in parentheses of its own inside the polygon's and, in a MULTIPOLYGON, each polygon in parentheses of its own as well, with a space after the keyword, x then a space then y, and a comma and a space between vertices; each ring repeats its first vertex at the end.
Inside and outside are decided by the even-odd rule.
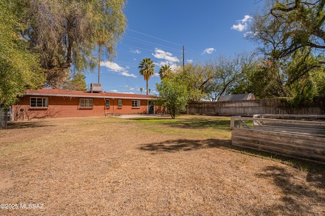
POLYGON ((188 93, 186 86, 174 80, 164 79, 156 83, 159 92, 158 104, 167 108, 172 119, 186 110, 188 93))

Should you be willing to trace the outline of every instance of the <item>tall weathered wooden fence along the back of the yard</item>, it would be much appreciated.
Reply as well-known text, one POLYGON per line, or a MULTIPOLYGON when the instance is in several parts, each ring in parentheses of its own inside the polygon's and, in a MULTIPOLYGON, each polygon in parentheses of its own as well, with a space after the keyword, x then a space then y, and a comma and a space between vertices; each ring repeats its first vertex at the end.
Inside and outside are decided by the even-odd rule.
POLYGON ((325 100, 317 100, 299 108, 289 107, 279 98, 238 100, 238 101, 200 101, 188 104, 188 114, 216 116, 249 116, 255 114, 301 114, 324 115, 325 100))

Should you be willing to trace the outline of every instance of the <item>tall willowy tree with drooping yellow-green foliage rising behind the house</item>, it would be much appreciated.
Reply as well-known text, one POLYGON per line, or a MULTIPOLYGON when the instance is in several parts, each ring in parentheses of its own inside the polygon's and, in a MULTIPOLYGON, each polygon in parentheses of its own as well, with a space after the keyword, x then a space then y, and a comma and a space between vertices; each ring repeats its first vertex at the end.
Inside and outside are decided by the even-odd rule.
POLYGON ((76 71, 93 69, 98 63, 93 52, 98 47, 115 55, 126 25, 123 0, 17 1, 23 4, 20 13, 29 23, 22 35, 32 51, 41 54, 47 73, 66 75, 64 70, 72 65, 76 71))

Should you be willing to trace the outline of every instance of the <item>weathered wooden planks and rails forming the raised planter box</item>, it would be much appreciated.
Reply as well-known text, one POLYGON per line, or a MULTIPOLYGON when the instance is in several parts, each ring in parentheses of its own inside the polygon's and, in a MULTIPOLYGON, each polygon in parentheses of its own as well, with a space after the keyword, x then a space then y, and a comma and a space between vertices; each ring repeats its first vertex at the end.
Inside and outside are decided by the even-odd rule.
MULTIPOLYGON (((325 163, 325 135, 297 133, 287 131, 276 131, 281 128, 261 127, 259 129, 236 128, 235 120, 252 120, 253 118, 232 117, 232 144, 244 148, 262 150, 277 153, 279 155, 297 157, 306 160, 314 160, 315 162, 325 163), (272 130, 266 130, 266 128, 272 130)), ((256 118, 255 118, 256 119, 256 118)), ((273 120, 272 120, 273 121, 273 120)), ((280 120, 284 123, 296 124, 303 121, 280 120)), ((280 122, 275 121, 275 122, 280 122)), ((314 123, 314 122, 308 122, 314 123)), ((322 123, 322 122, 320 122, 322 123)), ((312 124, 303 124, 303 127, 312 124)), ((321 124, 319 124, 321 125, 321 124)), ((256 127, 256 124, 255 124, 256 127)), ((289 126, 288 126, 289 127, 289 126)), ((300 128, 303 130, 303 128, 300 128)), ((290 129, 289 129, 290 130, 290 129)), ((294 128, 292 130, 295 130, 294 128)), ((306 129, 308 131, 308 128, 306 129)), ((314 130, 314 132, 317 130, 314 130)), ((318 130, 322 131, 322 130, 318 130)), ((322 133, 322 132, 319 132, 322 133)))

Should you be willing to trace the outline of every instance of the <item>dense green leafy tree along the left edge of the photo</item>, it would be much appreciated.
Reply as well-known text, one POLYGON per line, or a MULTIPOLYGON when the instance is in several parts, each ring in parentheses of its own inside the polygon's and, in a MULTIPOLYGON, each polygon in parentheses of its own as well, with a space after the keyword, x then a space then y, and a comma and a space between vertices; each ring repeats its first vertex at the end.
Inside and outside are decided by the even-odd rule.
POLYGON ((12 1, 0 0, 0 106, 8 107, 17 101, 17 94, 25 89, 35 89, 44 82, 40 73, 38 56, 26 48, 28 44, 19 37, 24 28, 15 15, 12 1))

